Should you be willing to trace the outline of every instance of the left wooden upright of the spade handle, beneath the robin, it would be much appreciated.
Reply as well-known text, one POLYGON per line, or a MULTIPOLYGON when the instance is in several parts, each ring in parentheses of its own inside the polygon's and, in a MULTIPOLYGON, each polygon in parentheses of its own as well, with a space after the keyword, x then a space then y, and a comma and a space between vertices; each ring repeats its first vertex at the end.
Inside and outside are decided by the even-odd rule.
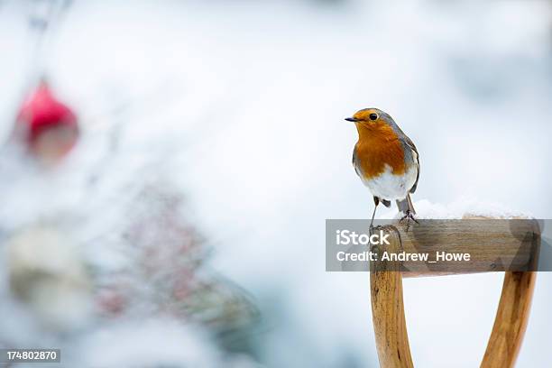
MULTIPOLYGON (((398 236, 392 234, 390 241, 391 244, 386 246, 386 250, 399 251, 398 236)), ((381 253, 382 249, 374 247, 373 251, 381 253)), ((379 263, 377 269, 382 271, 370 272, 370 285, 373 328, 380 366, 383 368, 413 367, 404 317, 400 264, 376 262, 379 263)))

